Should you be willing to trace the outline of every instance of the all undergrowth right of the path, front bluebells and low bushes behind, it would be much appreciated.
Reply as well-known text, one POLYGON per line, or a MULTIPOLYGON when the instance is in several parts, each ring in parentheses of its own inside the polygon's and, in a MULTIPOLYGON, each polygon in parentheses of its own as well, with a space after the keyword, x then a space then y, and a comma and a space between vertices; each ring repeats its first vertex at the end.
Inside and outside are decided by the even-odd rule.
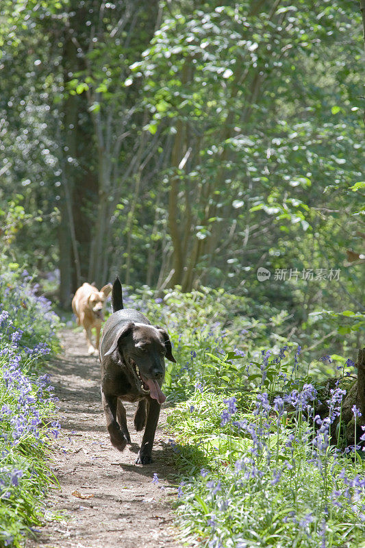
MULTIPOLYGON (((186 543, 363 548, 364 432, 350 448, 342 431, 331 432, 354 363, 306 359, 266 324, 229 316, 219 292, 137 301, 168 326, 178 362, 164 390, 174 404, 168 432, 186 543), (320 386, 326 374, 338 376, 331 390, 320 386), (328 416, 318 414, 320 403, 328 416)), ((359 425, 360 410, 353 414, 359 425)))

